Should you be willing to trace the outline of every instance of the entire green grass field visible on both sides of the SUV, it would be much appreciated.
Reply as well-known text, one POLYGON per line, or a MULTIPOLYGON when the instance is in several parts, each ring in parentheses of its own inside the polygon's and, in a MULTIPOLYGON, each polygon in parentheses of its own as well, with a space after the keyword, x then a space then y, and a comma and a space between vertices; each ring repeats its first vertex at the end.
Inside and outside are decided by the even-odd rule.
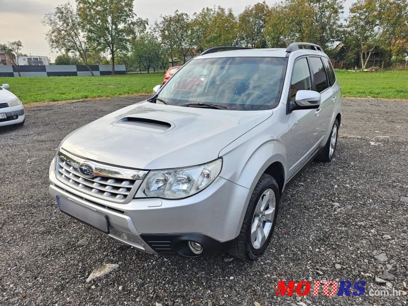
MULTIPOLYGON (((352 72, 337 70, 345 97, 408 99, 408 70, 352 72)), ((23 103, 150 94, 163 73, 104 77, 0 78, 23 103)))

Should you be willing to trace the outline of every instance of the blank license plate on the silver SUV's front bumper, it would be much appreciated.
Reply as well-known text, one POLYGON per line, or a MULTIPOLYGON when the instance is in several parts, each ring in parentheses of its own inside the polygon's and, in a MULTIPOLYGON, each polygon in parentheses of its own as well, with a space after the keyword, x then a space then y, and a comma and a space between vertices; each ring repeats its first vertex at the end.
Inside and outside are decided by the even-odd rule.
POLYGON ((63 197, 57 196, 57 202, 63 213, 96 228, 100 232, 109 234, 108 216, 63 197))

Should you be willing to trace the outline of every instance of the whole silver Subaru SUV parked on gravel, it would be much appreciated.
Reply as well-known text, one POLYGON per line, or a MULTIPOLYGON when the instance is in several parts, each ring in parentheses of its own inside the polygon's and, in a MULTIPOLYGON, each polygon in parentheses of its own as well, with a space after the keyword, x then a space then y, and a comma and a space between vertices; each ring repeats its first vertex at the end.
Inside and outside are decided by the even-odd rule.
POLYGON ((333 159, 340 86, 314 44, 224 49, 68 135, 49 168, 61 211, 148 253, 258 259, 286 184, 333 159))

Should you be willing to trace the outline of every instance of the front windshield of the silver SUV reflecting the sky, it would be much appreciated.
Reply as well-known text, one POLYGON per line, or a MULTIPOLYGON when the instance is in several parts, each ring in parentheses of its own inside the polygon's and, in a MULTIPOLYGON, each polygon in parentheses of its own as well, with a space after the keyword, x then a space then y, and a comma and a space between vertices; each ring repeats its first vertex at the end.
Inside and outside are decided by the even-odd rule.
POLYGON ((158 99, 170 105, 212 104, 228 110, 276 107, 281 98, 286 58, 192 60, 167 82, 158 99))

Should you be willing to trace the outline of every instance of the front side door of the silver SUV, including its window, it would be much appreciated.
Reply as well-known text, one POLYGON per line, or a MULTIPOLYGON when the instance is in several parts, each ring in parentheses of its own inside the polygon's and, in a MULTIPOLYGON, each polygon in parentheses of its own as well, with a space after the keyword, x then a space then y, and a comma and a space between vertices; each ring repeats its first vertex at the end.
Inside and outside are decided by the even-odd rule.
MULTIPOLYGON (((311 69, 307 57, 299 58, 293 66, 288 104, 295 103, 296 92, 313 90, 311 69)), ((289 176, 308 162, 320 140, 319 110, 296 110, 288 114, 289 123, 289 176)))

